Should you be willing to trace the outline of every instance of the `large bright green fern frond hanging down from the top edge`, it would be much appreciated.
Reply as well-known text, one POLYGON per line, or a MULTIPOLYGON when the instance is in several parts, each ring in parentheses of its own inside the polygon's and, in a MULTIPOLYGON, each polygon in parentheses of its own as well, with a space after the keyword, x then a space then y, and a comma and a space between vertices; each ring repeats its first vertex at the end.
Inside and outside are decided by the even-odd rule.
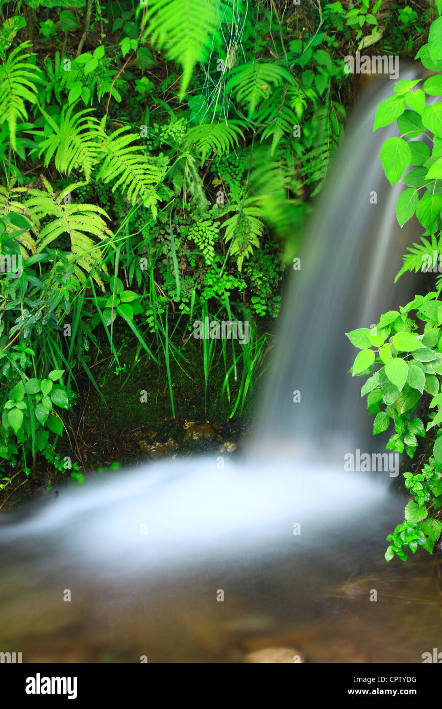
POLYGON ((167 59, 179 62, 184 71, 180 92, 189 86, 197 62, 209 55, 211 41, 220 20, 217 0, 151 0, 145 14, 147 28, 141 43, 150 35, 158 49, 165 48, 167 59))

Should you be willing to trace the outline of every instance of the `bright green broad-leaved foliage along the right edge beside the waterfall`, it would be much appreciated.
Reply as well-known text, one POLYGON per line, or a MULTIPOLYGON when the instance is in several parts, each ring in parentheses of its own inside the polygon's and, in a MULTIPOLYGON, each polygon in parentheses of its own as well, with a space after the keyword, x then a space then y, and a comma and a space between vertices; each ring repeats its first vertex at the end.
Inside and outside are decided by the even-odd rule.
MULTIPOLYGON (((441 13, 442 3, 438 3, 438 11, 441 13)), ((442 71, 442 17, 431 24, 429 41, 416 58, 431 72, 442 71)), ((441 74, 425 81, 402 79, 395 82, 393 95, 377 108, 374 130, 396 121, 400 133, 400 137, 385 140, 380 152, 389 182, 395 184, 402 178, 407 186, 397 201, 397 220, 403 226, 416 213, 424 229, 420 242, 404 255, 396 279, 406 271, 442 272, 442 104, 426 101, 428 96, 441 95, 441 74)), ((405 487, 413 499, 405 508, 404 522, 387 537, 391 542, 385 552, 387 561, 394 554, 405 560, 406 548, 414 554, 419 545, 432 554, 442 531, 440 275, 433 286, 433 291, 414 296, 400 312, 384 313, 371 330, 348 333, 361 350, 352 367, 353 376, 371 374, 361 395, 368 394, 368 409, 375 414, 373 434, 394 426, 387 450, 405 452, 414 461, 413 472, 404 473, 405 487), (426 411, 426 427, 415 415, 418 408, 426 411), (418 450, 416 436, 426 439, 423 450, 418 450)))

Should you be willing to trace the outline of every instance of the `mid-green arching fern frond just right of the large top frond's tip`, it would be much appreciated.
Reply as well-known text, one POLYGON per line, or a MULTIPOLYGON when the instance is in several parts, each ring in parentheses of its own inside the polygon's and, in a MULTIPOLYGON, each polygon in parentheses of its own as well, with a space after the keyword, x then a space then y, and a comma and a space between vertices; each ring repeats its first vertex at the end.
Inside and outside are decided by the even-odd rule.
POLYGON ((237 101, 248 106, 250 118, 260 101, 270 98, 284 81, 292 83, 292 75, 279 62, 248 62, 231 70, 226 91, 233 91, 237 101))

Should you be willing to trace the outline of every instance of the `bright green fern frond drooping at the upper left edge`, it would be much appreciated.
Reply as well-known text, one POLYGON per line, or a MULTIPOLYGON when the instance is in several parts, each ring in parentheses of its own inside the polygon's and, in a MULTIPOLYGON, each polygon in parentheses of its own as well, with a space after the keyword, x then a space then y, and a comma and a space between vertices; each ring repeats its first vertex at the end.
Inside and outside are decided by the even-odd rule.
POLYGON ((26 60, 30 52, 24 52, 30 43, 24 42, 10 52, 0 66, 0 124, 8 123, 9 138, 16 150, 16 125, 18 118, 26 121, 28 112, 25 101, 35 104, 37 89, 34 82, 40 81, 40 72, 26 60))

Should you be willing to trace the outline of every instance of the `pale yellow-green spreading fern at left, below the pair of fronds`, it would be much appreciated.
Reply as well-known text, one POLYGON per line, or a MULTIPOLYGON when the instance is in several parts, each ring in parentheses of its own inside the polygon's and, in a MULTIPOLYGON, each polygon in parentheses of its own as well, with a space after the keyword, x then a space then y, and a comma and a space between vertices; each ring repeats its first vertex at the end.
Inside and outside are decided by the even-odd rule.
MULTIPOLYGON (((106 267, 101 263, 101 251, 96 242, 91 238, 99 240, 109 240, 113 234, 106 226, 106 222, 100 215, 109 219, 109 216, 95 204, 65 204, 63 199, 78 186, 84 184, 76 182, 67 186, 60 194, 57 194, 43 175, 41 176, 46 191, 40 189, 27 189, 30 199, 24 203, 26 212, 35 222, 44 219, 45 225, 38 233, 37 252, 43 251, 45 246, 52 244, 57 238, 68 235, 71 244, 70 261, 75 264, 77 276, 84 280, 81 269, 90 273, 97 267, 97 271, 105 272, 106 267), (50 221, 48 221, 50 218, 50 221)), ((104 289, 99 273, 94 273, 94 279, 99 286, 104 289)))

